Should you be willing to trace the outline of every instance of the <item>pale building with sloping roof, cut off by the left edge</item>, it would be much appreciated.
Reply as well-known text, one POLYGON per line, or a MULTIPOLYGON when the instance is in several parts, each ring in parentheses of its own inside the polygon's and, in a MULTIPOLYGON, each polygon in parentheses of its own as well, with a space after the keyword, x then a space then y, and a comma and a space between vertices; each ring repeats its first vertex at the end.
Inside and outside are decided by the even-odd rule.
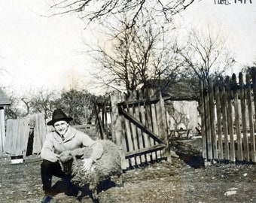
POLYGON ((4 151, 5 144, 5 106, 11 105, 10 100, 0 89, 0 152, 4 151))

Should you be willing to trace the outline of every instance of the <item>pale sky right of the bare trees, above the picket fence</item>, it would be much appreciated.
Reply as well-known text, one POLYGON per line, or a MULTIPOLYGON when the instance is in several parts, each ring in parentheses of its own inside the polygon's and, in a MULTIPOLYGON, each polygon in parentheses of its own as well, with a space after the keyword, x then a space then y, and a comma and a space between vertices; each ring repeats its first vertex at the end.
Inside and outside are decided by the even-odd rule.
MULTIPOLYGON (((214 24, 228 39, 228 47, 236 53, 236 60, 242 64, 256 61, 256 1, 228 0, 230 5, 215 4, 218 0, 203 0, 189 8, 186 21, 196 25, 206 26, 214 24), (236 2, 236 3, 235 3, 236 2)), ((236 71, 236 70, 234 70, 236 71)))

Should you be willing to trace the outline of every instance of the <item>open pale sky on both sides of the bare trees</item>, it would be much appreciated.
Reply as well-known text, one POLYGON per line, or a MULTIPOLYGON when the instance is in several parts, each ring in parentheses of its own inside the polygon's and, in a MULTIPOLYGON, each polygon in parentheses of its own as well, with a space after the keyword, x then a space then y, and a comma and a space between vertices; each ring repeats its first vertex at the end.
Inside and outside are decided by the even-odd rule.
MULTIPOLYGON (((184 26, 217 24, 228 35, 241 67, 256 61, 256 2, 229 2, 195 3, 182 20, 184 26)), ((0 0, 0 68, 8 71, 0 77, 0 86, 61 88, 71 86, 73 79, 90 87, 90 62, 79 53, 82 36, 90 38, 89 33, 75 15, 41 17, 47 9, 42 0, 0 0)))

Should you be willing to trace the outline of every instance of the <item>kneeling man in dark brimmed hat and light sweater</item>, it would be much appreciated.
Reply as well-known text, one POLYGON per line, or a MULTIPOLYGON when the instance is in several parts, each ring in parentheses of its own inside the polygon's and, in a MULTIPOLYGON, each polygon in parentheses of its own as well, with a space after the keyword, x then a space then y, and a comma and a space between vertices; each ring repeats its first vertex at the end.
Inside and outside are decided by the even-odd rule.
POLYGON ((46 135, 44 145, 41 149, 41 180, 44 189, 44 198, 41 202, 50 202, 52 200, 51 180, 53 175, 56 177, 65 178, 66 174, 61 170, 59 165, 59 154, 65 150, 74 150, 80 147, 93 148, 92 156, 89 159, 84 159, 83 170, 90 169, 93 162, 102 156, 102 144, 93 141, 88 135, 74 129, 69 125, 73 120, 72 117, 67 117, 60 109, 53 111, 52 120, 47 123, 47 126, 53 126, 54 132, 46 135))

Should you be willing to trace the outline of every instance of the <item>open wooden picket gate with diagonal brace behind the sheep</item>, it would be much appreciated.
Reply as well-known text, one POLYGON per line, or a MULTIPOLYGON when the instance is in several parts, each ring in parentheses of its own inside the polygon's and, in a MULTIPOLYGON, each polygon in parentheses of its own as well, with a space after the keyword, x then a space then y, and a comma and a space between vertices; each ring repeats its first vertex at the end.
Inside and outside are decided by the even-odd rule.
POLYGON ((160 92, 150 89, 111 95, 111 132, 120 147, 123 169, 170 159, 166 110, 160 92))

